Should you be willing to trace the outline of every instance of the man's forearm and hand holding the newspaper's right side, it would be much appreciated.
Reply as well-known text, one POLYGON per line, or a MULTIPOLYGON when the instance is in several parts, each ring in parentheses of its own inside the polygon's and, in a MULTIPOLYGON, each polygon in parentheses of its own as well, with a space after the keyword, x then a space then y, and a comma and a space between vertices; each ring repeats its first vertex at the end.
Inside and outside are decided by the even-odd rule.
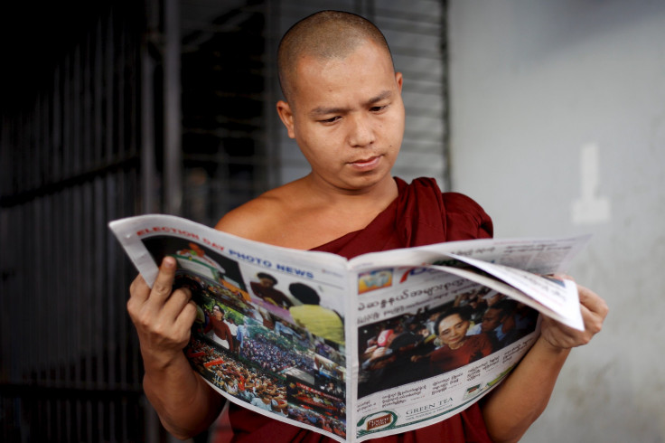
POLYGON ((589 343, 600 332, 607 316, 607 305, 585 287, 578 286, 578 291, 585 331, 576 331, 543 317, 539 339, 482 405, 492 440, 518 441, 547 407, 571 348, 589 343))

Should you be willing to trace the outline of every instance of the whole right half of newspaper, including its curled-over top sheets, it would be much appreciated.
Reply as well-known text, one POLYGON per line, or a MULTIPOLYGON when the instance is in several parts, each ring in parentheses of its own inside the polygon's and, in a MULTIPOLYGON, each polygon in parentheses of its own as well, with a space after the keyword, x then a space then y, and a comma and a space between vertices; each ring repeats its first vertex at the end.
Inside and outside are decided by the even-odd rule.
POLYGON ((529 271, 563 271, 587 241, 471 240, 352 259, 359 364, 350 403, 359 441, 480 400, 538 338, 538 311, 583 328, 576 285, 529 271))

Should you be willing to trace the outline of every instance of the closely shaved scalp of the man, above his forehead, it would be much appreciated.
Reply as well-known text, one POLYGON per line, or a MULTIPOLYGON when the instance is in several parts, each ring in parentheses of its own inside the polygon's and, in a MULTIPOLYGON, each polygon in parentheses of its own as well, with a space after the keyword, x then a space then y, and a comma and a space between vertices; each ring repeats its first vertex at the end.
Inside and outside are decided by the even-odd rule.
POLYGON ((322 61, 343 59, 365 42, 374 42, 384 49, 392 62, 386 38, 376 25, 360 15, 321 11, 294 24, 279 42, 277 51, 279 84, 286 101, 293 106, 298 61, 305 57, 322 61))

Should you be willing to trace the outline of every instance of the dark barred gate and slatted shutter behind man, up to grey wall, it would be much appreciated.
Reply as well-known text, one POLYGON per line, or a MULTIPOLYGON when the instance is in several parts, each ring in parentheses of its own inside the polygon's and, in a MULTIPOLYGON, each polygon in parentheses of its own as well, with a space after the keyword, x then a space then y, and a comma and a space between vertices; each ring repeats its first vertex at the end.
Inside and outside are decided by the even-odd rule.
POLYGON ((333 7, 390 33, 396 61, 421 67, 405 84, 410 157, 398 174, 445 177, 438 0, 8 3, 23 19, 0 14, 11 43, 0 81, 2 441, 166 438, 126 315, 136 272, 106 226, 145 212, 214 224, 306 174, 274 110, 276 43, 295 19, 333 7))

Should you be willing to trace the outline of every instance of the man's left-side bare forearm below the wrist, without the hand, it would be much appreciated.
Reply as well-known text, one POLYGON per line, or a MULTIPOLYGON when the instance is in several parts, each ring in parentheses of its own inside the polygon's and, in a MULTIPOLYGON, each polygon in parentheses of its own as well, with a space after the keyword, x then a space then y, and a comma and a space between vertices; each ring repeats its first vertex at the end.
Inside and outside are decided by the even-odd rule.
POLYGON ((164 428, 176 438, 190 438, 211 425, 223 400, 181 357, 161 366, 146 363, 144 391, 164 428))

